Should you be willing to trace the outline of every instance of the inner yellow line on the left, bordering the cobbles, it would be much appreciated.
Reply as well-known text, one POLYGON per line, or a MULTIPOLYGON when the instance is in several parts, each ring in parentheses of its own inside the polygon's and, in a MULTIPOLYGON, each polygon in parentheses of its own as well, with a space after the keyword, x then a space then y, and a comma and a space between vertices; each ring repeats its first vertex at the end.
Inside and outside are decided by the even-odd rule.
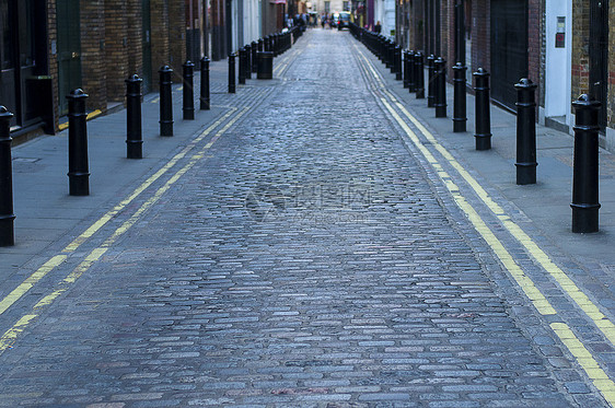
POLYGON ((43 310, 49 306, 56 299, 58 299, 62 293, 71 288, 71 284, 77 282, 77 280, 86 272, 92 265, 98 261, 102 256, 111 248, 117 240, 128 232, 137 221, 143 215, 143 213, 149 210, 155 202, 158 202, 162 196, 179 179, 185 175, 199 160, 205 158, 205 152, 210 149, 217 140, 225 133, 231 126, 233 126, 244 114, 250 110, 250 107, 244 107, 241 109, 228 124, 224 125, 212 138, 212 140, 202 147, 198 153, 194 154, 188 163, 186 163, 182 168, 173 174, 166 180, 166 183, 160 187, 146 202, 143 202, 139 209, 119 228, 117 228, 114 233, 107 237, 103 244, 90 252, 88 256, 60 282, 59 289, 54 290, 51 293, 45 295, 40 299, 33 307, 33 313, 24 315, 20 320, 13 325, 9 330, 0 337, 0 354, 2 354, 7 349, 13 347, 20 334, 32 323, 36 317, 40 315, 43 310))

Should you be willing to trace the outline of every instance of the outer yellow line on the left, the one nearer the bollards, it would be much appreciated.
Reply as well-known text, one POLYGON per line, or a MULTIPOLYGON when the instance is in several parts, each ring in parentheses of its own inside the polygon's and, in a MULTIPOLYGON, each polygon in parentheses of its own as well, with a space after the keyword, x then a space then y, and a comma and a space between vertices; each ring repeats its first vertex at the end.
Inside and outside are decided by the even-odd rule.
MULTIPOLYGON (((173 156, 167 163, 165 163, 158 172, 151 175, 146 182, 143 182, 139 187, 137 187, 128 197, 121 200, 112 210, 107 211, 103 217, 96 220, 92 225, 90 225, 84 232, 77 236, 70 244, 68 244, 59 255, 54 256, 51 259, 43 264, 38 269, 36 269, 30 277, 27 277, 22 283, 20 283, 13 291, 11 291, 7 296, 0 300, 0 315, 3 314, 11 305, 19 301, 25 293, 27 293, 40 279, 43 279, 47 273, 61 265, 68 257, 69 254, 77 250, 84 242, 92 237, 97 231, 100 231, 107 222, 114 219, 120 211, 123 211, 130 202, 132 202, 139 195, 141 195, 148 187, 150 187, 155 180, 169 172, 175 164, 186 156, 186 154, 195 148, 195 145, 205 139, 213 129, 224 123, 231 115, 233 115, 237 108, 232 108, 230 112, 224 114, 220 119, 216 120, 211 126, 204 130, 197 138, 195 138, 188 145, 186 145, 179 153, 173 156)), ((240 113, 240 116, 243 112, 240 113)), ((233 121, 234 123, 234 121, 233 121)))

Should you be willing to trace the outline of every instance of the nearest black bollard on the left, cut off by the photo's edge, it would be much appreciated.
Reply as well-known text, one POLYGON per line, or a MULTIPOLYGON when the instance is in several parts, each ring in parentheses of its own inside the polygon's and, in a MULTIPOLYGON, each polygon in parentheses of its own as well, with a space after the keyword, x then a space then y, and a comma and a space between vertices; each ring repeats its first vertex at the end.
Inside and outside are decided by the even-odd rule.
POLYGON ((15 245, 11 114, 0 106, 0 246, 15 245))

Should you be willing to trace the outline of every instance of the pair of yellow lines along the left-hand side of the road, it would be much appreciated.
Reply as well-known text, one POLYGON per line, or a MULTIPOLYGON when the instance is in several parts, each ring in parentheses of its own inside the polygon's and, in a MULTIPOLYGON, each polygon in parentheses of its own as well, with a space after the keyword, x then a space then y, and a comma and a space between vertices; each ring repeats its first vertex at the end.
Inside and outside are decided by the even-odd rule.
MULTIPOLYGON (((224 114, 221 118, 219 118, 216 123, 209 126, 205 131, 202 131, 197 138, 195 138, 188 145, 186 145, 179 153, 177 153, 171 161, 169 161, 164 166, 162 166, 156 173, 150 176, 146 182, 143 182, 139 187, 137 187, 130 196, 115 206, 112 210, 106 212, 103 217, 101 217, 96 222, 94 222, 89 229, 86 229, 81 235, 79 235, 76 240, 73 240, 69 245, 67 245, 61 254, 54 256, 48 261, 46 261, 43 266, 40 266, 35 272, 33 272, 27 279, 25 279, 20 285, 18 285, 11 293, 9 293, 4 299, 0 301, 0 314, 4 313, 12 304, 14 304, 18 300, 20 300, 30 289, 34 287, 40 279, 43 279, 47 273, 51 270, 60 266, 68 257, 70 253, 73 253, 79 248, 88 238, 90 238, 94 233, 101 230, 108 221, 111 221, 115 215, 117 215, 121 210, 124 210, 130 202, 132 202, 141 193, 143 193, 148 187, 150 187, 156 179, 159 179, 163 174, 169 172, 179 160, 185 158, 190 150, 195 148, 195 145, 206 138, 213 129, 219 127, 222 123, 229 119, 237 108, 233 108, 231 112, 224 114)), ((126 233, 137 221, 138 219, 148 210, 150 209, 161 197, 164 193, 171 188, 173 184, 175 184, 186 172, 188 172, 200 159, 204 158, 204 153, 210 149, 213 143, 220 137, 229 130, 231 126, 233 126, 247 110, 250 107, 244 107, 241 109, 231 120, 224 125, 214 136, 213 138, 200 149, 200 151, 190 156, 188 163, 179 168, 173 176, 162 186, 160 187, 152 197, 150 197, 139 209, 127 220, 125 221, 118 229, 114 231, 114 233, 106 238, 101 246, 94 248, 90 254, 69 273, 61 282, 60 288, 51 292, 50 294, 44 296, 33 308, 33 313, 26 314, 19 319, 19 322, 13 325, 2 337, 0 337, 0 354, 7 350, 8 348, 12 347, 15 339, 18 338, 19 334, 22 333, 25 327, 38 316, 38 311, 49 305, 54 300, 56 300, 60 294, 66 292, 71 283, 74 283, 79 277, 83 275, 95 261, 97 261, 106 252, 107 249, 124 234, 126 233)))

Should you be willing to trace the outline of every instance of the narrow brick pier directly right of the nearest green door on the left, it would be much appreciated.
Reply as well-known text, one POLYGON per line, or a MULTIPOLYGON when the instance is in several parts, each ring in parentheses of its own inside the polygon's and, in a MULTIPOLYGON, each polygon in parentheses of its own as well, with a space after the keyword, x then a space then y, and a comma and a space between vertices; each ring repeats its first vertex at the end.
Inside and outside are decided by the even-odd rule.
POLYGON ((81 0, 81 79, 88 95, 86 108, 106 110, 104 0, 81 0))

